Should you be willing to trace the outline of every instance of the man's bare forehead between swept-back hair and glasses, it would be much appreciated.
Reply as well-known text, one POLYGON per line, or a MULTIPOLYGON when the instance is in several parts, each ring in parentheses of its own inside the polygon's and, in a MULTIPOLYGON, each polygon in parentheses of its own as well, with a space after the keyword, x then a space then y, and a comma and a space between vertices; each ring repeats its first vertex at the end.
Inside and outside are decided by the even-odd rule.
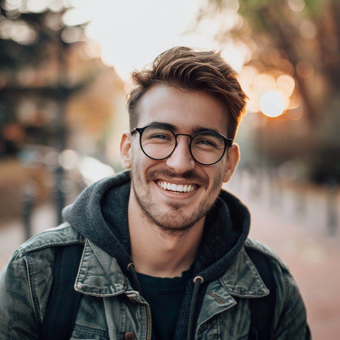
POLYGON ((178 132, 192 134, 208 128, 226 135, 226 108, 215 97, 202 91, 189 92, 156 85, 145 92, 139 103, 138 127, 153 122, 174 125, 178 132))

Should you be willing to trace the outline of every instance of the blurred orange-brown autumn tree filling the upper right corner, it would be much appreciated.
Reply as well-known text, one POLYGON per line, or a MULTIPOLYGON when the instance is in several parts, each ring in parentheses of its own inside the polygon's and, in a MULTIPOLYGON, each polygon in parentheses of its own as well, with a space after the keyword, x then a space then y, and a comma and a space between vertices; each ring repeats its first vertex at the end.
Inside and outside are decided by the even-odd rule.
POLYGON ((339 182, 340 1, 208 2, 198 23, 206 17, 222 17, 215 35, 222 49, 232 40, 234 44, 242 42, 251 51, 244 60, 244 72, 240 70, 249 75, 255 69, 255 76, 246 86, 250 111, 260 110, 258 104, 266 91, 285 90, 278 84, 280 76, 289 75, 295 80, 283 114, 266 118, 266 125, 258 128, 258 142, 267 161, 277 165, 299 157, 308 168, 309 178, 325 182, 332 177, 339 182), (238 11, 233 24, 227 15, 230 9, 238 11), (262 89, 256 92, 259 76, 262 89))

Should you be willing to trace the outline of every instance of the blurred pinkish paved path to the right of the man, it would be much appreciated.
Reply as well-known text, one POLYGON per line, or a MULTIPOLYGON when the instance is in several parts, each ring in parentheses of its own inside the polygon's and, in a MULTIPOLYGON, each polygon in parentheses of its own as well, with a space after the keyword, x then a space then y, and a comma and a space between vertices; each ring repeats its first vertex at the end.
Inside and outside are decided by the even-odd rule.
POLYGON ((306 304, 312 339, 340 340, 340 231, 326 236, 324 206, 317 204, 322 198, 311 200, 311 212, 302 218, 287 209, 291 194, 283 194, 278 206, 268 190, 254 195, 245 182, 225 188, 248 206, 250 237, 266 243, 288 265, 306 304))

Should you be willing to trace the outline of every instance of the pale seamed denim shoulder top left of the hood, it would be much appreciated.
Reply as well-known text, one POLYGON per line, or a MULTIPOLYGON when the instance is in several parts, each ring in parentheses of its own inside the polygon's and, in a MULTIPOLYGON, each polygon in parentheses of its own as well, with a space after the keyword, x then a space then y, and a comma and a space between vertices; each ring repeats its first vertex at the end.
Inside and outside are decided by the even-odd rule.
POLYGON ((24 256, 41 249, 73 243, 85 244, 85 237, 66 222, 30 238, 18 248, 18 253, 24 256))

